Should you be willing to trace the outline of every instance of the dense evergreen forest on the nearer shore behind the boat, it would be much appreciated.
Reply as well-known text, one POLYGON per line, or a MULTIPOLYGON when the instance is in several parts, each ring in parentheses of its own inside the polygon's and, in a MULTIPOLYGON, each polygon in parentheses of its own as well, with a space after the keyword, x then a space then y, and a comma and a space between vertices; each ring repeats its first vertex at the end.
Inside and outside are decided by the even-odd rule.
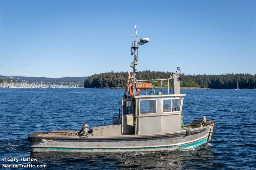
MULTIPOLYGON (((169 78, 171 72, 162 71, 141 71, 136 78, 139 80, 164 79, 169 78)), ((106 72, 95 74, 88 77, 84 81, 85 88, 118 88, 124 87, 126 83, 127 73, 106 72)), ((240 89, 252 89, 256 84, 256 74, 222 74, 222 75, 184 75, 181 74, 181 87, 200 87, 207 88, 210 82, 210 88, 216 89, 234 89, 236 84, 240 89)), ((167 82, 166 82, 167 83, 167 82)), ((161 86, 160 82, 154 83, 155 86, 161 86)))

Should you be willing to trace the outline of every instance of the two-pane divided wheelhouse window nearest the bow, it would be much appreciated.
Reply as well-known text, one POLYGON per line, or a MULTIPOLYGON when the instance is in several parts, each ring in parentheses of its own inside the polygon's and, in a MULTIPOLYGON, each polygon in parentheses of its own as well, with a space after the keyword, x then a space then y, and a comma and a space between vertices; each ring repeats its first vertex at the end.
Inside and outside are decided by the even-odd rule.
POLYGON ((181 99, 168 99, 163 100, 164 112, 177 112, 180 111, 181 99))

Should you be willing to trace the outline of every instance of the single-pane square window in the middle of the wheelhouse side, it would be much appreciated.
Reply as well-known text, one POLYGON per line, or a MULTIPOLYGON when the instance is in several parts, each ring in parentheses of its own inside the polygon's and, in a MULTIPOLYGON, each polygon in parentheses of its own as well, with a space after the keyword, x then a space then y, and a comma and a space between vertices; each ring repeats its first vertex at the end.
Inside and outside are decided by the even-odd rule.
POLYGON ((140 113, 156 113, 156 100, 140 100, 140 113))

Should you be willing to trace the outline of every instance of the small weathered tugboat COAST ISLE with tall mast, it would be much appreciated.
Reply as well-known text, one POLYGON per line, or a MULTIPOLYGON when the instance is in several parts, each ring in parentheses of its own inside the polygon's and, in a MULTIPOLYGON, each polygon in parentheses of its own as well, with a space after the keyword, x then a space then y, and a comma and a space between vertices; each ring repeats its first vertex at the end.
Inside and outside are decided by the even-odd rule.
POLYGON ((194 120, 183 124, 182 107, 186 94, 180 93, 180 67, 169 78, 138 80, 138 48, 149 38, 133 41, 133 68, 128 71, 122 101, 122 116, 113 117, 113 124, 81 130, 54 130, 35 132, 28 136, 31 152, 138 152, 193 148, 212 141, 215 123, 194 120), (155 92, 154 83, 161 82, 161 92, 155 92), (169 83, 171 85, 169 85, 169 83), (171 87, 170 87, 171 86, 171 87), (163 87, 167 87, 166 94, 163 87), (172 94, 170 90, 172 89, 172 94), (145 90, 145 91, 144 91, 145 90), (143 94, 142 94, 143 93, 143 94))

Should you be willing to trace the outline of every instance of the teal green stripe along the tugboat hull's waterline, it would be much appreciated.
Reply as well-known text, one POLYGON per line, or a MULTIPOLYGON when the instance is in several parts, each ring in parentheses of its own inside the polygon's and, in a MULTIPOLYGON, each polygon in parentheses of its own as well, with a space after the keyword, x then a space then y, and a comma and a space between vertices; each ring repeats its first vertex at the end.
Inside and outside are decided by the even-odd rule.
MULTIPOLYGON (((179 149, 186 149, 189 147, 196 147, 201 144, 204 144, 207 142, 207 139, 204 139, 202 141, 192 143, 192 144, 184 144, 177 147, 177 150, 179 149)), ((110 151, 110 150, 147 150, 147 149, 161 149, 161 148, 174 148, 175 146, 160 146, 160 147, 148 147, 148 148, 106 148, 106 149, 94 149, 94 148, 35 148, 40 150, 55 150, 55 151, 75 151, 75 150, 86 150, 86 151, 110 151)))

